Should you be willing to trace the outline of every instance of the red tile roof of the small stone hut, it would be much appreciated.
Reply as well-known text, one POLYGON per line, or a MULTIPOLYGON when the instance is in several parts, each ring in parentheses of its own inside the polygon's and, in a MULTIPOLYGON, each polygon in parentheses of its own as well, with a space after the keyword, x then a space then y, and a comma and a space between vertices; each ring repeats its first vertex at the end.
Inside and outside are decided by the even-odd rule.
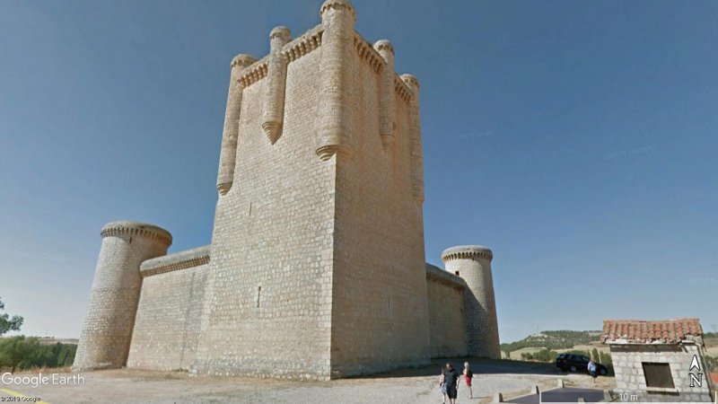
POLYGON ((600 341, 607 343, 626 339, 630 343, 678 343, 687 336, 699 337, 703 329, 698 319, 665 321, 604 320, 600 341))

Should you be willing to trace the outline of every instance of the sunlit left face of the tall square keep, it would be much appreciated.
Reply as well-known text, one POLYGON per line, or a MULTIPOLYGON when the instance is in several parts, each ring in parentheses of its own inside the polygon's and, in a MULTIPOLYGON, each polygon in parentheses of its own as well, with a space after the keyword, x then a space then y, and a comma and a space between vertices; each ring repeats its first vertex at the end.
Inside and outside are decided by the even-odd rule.
POLYGON ((232 189, 219 197, 192 373, 328 379, 335 163, 316 155, 320 36, 285 48, 284 124, 262 128, 266 59, 244 85, 232 189))

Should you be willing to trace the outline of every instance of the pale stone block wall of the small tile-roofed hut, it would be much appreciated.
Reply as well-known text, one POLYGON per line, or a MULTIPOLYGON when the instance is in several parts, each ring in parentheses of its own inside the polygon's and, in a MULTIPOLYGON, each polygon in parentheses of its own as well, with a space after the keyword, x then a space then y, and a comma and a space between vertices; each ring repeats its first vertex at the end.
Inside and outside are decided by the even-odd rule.
MULTIPOLYGON (((705 362, 701 359, 704 372, 703 387, 690 387, 691 361, 694 355, 702 358, 704 350, 695 344, 687 345, 610 345, 611 360, 616 372, 616 392, 638 396, 638 401, 695 401, 713 402, 710 381, 706 380, 705 362), (644 362, 669 364, 675 384, 675 391, 651 389, 647 391, 644 362)), ((695 384, 695 383, 694 383, 695 384)))

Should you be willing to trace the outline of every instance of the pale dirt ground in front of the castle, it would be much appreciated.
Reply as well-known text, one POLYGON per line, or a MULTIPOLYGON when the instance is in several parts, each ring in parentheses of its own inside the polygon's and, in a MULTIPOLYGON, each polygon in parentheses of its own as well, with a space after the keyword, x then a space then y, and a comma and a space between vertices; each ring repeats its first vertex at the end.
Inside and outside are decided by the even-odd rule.
MULTIPOLYGON (((451 361, 454 365, 463 359, 451 361)), ((551 364, 519 361, 469 360, 475 373, 474 400, 461 385, 459 403, 486 403, 500 391, 505 399, 528 394, 538 385, 542 391, 567 386, 594 387, 591 377, 565 374, 551 364)), ((236 377, 192 377, 180 372, 112 370, 82 373, 78 385, 0 384, 0 398, 22 394, 51 404, 62 403, 341 403, 391 402, 437 404, 441 363, 402 369, 375 376, 332 382, 288 382, 236 377)), ((22 373, 32 376, 37 373, 22 373)), ((72 373, 62 373, 71 376, 72 373)), ((596 388, 608 389, 613 378, 599 378, 596 388)))

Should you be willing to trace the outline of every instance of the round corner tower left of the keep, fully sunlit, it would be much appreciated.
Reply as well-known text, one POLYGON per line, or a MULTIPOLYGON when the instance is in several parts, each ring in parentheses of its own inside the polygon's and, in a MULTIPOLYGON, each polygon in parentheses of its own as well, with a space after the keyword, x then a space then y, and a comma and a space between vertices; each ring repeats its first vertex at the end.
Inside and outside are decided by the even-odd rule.
POLYGON ((126 364, 142 287, 140 264, 167 254, 172 236, 152 224, 113 222, 101 231, 102 246, 92 281, 73 370, 126 364))

